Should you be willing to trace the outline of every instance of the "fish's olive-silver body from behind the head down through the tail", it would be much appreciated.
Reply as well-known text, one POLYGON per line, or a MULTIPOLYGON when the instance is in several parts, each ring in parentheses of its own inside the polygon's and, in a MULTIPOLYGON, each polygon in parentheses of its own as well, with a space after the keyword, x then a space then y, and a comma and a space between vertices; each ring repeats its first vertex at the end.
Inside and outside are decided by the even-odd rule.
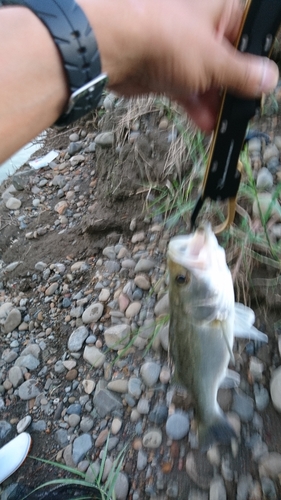
POLYGON ((199 441, 203 446, 214 441, 229 442, 234 436, 217 402, 230 359, 223 329, 232 348, 232 318, 223 322, 183 322, 171 314, 170 350, 175 381, 193 396, 199 441))

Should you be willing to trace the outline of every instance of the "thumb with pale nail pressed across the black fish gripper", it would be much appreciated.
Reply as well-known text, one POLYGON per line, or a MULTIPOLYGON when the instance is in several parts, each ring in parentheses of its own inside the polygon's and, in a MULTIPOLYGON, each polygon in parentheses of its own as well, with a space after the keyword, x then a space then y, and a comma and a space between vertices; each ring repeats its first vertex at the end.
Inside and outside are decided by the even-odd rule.
POLYGON ((273 61, 267 57, 241 53, 233 47, 224 48, 219 62, 220 85, 250 98, 260 97, 263 93, 270 94, 275 89, 279 71, 273 61))

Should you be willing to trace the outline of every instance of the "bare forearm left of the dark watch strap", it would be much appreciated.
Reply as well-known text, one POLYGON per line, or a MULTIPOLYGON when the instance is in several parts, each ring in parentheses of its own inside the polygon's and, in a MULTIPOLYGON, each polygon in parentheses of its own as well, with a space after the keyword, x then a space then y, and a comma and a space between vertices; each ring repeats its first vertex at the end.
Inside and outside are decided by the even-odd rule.
POLYGON ((58 50, 22 7, 0 9, 0 163, 55 122, 68 98, 58 50))

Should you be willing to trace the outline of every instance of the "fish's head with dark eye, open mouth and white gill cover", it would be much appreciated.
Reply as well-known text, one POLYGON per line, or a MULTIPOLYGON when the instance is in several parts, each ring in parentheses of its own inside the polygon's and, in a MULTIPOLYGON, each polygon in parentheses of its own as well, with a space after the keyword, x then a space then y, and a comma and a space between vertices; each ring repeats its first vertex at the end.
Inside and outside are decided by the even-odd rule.
POLYGON ((212 306, 219 320, 225 319, 234 309, 233 283, 225 251, 210 224, 200 226, 195 233, 170 240, 168 268, 173 293, 188 289, 192 307, 196 301, 212 306))

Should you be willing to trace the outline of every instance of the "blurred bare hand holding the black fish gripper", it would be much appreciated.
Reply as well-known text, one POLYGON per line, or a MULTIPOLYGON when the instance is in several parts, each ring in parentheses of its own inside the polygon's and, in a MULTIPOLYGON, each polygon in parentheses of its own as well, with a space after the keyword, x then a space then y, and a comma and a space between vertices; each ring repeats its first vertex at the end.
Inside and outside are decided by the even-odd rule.
POLYGON ((215 127, 222 87, 255 98, 277 84, 275 63, 233 46, 243 14, 238 0, 103 0, 90 11, 87 0, 79 3, 109 87, 127 96, 164 93, 205 131, 215 127))

